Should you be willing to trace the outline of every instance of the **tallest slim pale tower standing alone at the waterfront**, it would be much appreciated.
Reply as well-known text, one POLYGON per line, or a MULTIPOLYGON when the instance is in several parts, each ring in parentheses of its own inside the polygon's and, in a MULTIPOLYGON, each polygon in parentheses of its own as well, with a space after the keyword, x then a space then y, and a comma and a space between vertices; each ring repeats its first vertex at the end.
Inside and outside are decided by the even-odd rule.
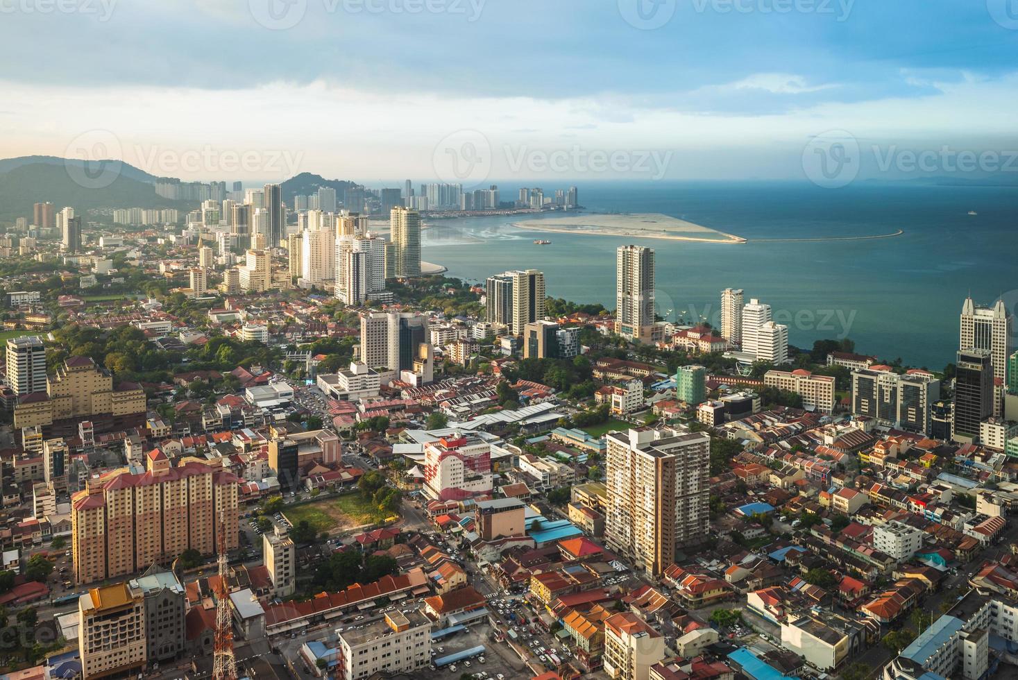
POLYGON ((649 342, 654 326, 654 248, 620 245, 615 270, 615 332, 635 342, 649 342))

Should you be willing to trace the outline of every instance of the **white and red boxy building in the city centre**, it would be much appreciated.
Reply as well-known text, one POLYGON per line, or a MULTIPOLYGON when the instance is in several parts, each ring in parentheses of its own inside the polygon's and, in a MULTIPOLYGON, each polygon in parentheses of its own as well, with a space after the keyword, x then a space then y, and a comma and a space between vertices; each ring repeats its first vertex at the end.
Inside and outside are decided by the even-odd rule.
POLYGON ((491 495, 492 445, 476 435, 453 434, 425 444, 425 494, 439 501, 491 495))

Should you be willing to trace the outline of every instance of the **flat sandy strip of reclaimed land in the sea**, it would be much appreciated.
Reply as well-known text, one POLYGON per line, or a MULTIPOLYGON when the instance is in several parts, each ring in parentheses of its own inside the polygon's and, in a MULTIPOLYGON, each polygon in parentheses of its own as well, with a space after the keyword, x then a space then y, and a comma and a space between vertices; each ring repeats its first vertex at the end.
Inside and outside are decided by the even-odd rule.
POLYGON ((745 243, 746 239, 726 234, 685 220, 656 213, 625 213, 619 215, 574 215, 550 220, 516 222, 520 229, 565 234, 593 234, 623 238, 665 238, 676 241, 705 243, 745 243))

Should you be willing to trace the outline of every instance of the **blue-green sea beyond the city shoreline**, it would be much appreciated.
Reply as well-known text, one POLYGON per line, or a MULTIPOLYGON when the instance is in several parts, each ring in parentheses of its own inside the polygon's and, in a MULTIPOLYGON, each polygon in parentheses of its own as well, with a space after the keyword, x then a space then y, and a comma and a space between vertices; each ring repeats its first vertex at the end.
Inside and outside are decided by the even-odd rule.
MULTIPOLYGON (((518 183, 518 182, 517 182, 518 183)), ((557 184, 560 182, 556 182, 557 184)), ((857 352, 941 370, 955 360, 969 294, 1018 311, 1018 187, 720 181, 561 182, 588 213, 662 213, 749 239, 698 243, 523 230, 534 216, 426 221, 422 258, 483 283, 534 268, 548 294, 615 307, 615 248, 655 248, 656 304, 669 321, 720 327, 721 291, 770 304, 789 342, 850 338, 857 352), (970 215, 970 212, 976 213, 970 215), (821 239, 892 234, 859 240, 821 239), (534 239, 552 241, 539 245, 534 239), (760 239, 760 240, 756 240, 760 239)), ((502 200, 514 183, 500 183, 502 200)), ((552 213, 546 217, 562 217, 552 213)), ((541 218, 536 218, 541 219, 541 218)), ((1015 343, 1018 344, 1018 343, 1015 343)))

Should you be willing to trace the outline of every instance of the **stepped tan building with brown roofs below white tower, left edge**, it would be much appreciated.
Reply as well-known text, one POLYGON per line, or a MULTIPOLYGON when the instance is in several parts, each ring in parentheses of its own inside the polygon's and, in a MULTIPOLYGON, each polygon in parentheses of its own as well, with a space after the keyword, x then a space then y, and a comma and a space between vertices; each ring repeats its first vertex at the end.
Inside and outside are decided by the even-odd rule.
POLYGON ((101 415, 111 416, 112 422, 117 422, 134 415, 144 418, 145 409, 145 390, 139 387, 114 390, 109 371, 96 365, 91 357, 71 356, 47 377, 46 394, 29 395, 14 407, 14 427, 46 428, 72 418, 99 420, 101 415))

